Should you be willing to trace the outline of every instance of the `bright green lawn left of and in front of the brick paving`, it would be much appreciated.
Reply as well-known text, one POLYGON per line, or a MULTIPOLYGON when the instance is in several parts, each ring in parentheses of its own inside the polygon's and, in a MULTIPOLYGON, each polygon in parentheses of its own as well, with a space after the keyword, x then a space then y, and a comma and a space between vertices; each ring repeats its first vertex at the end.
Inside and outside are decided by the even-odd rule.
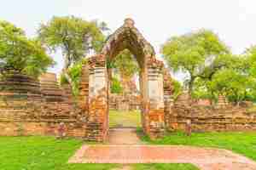
MULTIPOLYGON (((0 137, 1 170, 122 170, 118 164, 67 164, 83 144, 78 139, 0 137)), ((132 170, 196 170, 189 164, 132 164, 132 170)))

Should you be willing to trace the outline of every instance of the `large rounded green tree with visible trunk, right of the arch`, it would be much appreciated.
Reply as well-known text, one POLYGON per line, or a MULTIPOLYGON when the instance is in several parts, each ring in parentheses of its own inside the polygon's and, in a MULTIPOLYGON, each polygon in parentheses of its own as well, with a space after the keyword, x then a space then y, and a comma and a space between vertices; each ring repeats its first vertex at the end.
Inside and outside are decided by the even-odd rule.
POLYGON ((230 51, 216 34, 208 30, 193 31, 181 37, 172 37, 162 48, 164 58, 173 71, 189 74, 185 85, 191 95, 195 79, 210 79, 224 66, 223 58, 230 51))

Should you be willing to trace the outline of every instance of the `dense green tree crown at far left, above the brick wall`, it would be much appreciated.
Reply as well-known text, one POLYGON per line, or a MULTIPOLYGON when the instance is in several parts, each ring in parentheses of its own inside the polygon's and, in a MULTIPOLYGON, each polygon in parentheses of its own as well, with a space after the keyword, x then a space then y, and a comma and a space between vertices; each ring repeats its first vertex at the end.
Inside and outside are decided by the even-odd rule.
POLYGON ((26 37, 13 24, 0 20, 0 74, 11 71, 38 77, 54 60, 45 53, 42 44, 26 37))

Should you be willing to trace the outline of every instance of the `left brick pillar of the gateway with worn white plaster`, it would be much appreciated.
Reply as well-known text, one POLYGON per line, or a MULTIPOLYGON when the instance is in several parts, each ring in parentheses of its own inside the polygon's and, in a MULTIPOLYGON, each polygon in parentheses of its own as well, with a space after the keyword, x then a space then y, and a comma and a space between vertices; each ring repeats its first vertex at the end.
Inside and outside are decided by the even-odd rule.
POLYGON ((89 113, 85 138, 104 141, 108 135, 108 72, 105 57, 91 57, 89 65, 89 113))

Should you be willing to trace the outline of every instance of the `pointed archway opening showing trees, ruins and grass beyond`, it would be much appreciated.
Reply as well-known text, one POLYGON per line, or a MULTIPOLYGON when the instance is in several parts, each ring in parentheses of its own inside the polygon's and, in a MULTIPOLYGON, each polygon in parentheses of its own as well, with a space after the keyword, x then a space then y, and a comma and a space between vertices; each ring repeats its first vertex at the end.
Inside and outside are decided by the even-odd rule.
POLYGON ((140 66, 125 48, 108 60, 108 123, 110 128, 142 127, 140 66))

